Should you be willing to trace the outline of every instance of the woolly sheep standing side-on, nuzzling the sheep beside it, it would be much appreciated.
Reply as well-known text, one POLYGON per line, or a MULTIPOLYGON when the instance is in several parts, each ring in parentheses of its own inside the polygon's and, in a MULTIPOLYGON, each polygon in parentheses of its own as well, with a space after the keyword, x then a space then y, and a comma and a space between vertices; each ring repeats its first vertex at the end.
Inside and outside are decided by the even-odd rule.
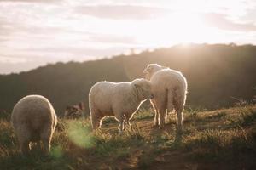
POLYGON ((89 93, 90 120, 93 129, 100 128, 105 116, 115 116, 119 133, 130 127, 130 120, 146 99, 152 99, 151 83, 144 79, 132 82, 97 82, 89 93))

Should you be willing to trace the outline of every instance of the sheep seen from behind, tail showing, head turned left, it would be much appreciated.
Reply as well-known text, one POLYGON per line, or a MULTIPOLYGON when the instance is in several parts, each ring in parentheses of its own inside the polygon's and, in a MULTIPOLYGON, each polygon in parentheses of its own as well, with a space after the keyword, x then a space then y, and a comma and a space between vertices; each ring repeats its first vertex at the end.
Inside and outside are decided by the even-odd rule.
POLYGON ((177 130, 182 130, 183 107, 188 87, 186 78, 181 72, 158 64, 149 64, 143 73, 152 84, 154 99, 150 102, 155 112, 154 125, 163 128, 166 111, 171 112, 174 109, 177 112, 177 130))

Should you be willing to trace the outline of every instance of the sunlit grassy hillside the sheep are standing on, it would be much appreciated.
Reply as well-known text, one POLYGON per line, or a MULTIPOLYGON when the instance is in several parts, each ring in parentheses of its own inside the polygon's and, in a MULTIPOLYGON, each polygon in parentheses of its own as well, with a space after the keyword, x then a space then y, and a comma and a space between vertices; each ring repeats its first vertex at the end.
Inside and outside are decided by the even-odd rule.
POLYGON ((92 133, 89 120, 58 123, 52 151, 35 146, 21 156, 9 117, 0 121, 0 169, 255 169, 256 107, 184 113, 183 134, 175 133, 170 115, 163 130, 154 127, 151 110, 141 110, 132 129, 118 134, 118 123, 106 119, 92 133))

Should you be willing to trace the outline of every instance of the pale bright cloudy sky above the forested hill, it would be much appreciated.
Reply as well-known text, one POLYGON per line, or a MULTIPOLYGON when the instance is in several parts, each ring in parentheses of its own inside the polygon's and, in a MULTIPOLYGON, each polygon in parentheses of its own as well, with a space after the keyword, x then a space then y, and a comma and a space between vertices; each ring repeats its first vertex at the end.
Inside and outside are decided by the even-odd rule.
POLYGON ((0 0, 0 74, 188 42, 256 44, 256 0, 0 0))

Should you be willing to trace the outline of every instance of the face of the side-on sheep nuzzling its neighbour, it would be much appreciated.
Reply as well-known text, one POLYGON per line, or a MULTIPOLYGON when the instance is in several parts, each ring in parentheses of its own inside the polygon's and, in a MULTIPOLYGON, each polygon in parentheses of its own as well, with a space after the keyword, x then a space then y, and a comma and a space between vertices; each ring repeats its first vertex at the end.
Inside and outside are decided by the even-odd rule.
POLYGON ((154 98, 154 94, 152 94, 151 90, 151 82, 144 78, 141 78, 135 80, 133 84, 137 88, 137 95, 140 100, 154 98))

